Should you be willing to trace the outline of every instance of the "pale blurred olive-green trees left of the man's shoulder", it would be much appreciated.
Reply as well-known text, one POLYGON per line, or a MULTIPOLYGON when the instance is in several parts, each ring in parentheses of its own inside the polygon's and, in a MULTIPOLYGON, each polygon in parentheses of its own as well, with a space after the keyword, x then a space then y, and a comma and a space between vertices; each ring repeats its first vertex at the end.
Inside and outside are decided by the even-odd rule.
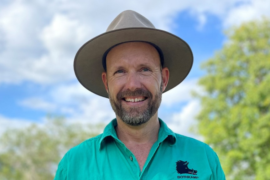
POLYGON ((25 129, 5 131, 0 137, 0 179, 53 179, 65 152, 100 134, 103 127, 48 118, 42 125, 33 123, 25 129))

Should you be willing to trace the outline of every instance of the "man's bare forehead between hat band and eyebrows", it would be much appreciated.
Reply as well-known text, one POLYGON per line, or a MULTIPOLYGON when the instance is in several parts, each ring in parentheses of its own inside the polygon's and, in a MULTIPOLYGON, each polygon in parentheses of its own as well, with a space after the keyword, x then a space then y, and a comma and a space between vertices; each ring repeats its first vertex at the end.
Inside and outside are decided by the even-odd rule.
POLYGON ((127 42, 113 47, 107 54, 106 64, 155 64, 160 66, 160 56, 155 47, 146 42, 127 42))

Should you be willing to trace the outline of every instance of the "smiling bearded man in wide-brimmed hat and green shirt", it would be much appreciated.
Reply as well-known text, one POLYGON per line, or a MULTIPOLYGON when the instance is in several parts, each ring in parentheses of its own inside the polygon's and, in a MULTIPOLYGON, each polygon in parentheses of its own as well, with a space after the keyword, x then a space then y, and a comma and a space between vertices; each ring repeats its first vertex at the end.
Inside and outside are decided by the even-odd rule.
POLYGON ((134 11, 120 13, 74 61, 80 83, 108 97, 116 119, 70 149, 55 180, 225 179, 208 145, 175 134, 158 118, 162 93, 182 82, 192 63, 182 39, 134 11))

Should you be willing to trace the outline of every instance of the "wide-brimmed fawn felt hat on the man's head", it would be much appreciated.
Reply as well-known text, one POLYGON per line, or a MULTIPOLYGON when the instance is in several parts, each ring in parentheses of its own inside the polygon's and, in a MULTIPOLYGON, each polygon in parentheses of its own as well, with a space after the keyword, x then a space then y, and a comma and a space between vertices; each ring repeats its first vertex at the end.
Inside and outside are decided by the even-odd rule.
POLYGON ((116 44, 130 41, 145 41, 158 46, 164 58, 163 67, 168 67, 170 76, 164 92, 179 85, 189 74, 193 64, 190 46, 178 36, 156 29, 141 14, 127 10, 120 13, 105 33, 86 42, 74 59, 74 71, 79 82, 91 92, 108 98, 101 73, 104 72, 104 53, 116 44))

